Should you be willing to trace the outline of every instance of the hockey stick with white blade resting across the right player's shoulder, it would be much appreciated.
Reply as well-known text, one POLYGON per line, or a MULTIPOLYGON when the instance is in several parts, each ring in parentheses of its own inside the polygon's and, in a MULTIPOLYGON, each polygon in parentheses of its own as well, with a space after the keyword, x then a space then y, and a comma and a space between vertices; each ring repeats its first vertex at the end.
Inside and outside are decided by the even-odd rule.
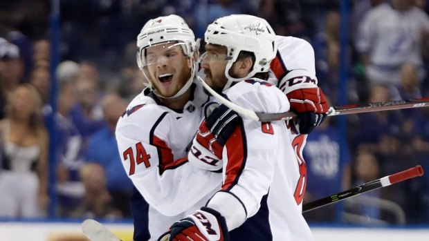
MULTIPOLYGON (((210 88, 206 82, 201 79, 201 77, 197 76, 197 79, 203 84, 204 88, 210 92, 214 97, 219 99, 219 102, 228 106, 235 112, 239 113, 242 117, 247 117, 249 119, 253 119, 259 122, 272 122, 277 120, 286 120, 286 119, 295 119, 297 115, 291 111, 284 113, 258 113, 253 110, 249 110, 238 106, 230 102, 228 99, 223 98, 221 95, 216 93, 215 90, 210 88)), ((421 99, 408 99, 408 100, 394 100, 391 102, 376 102, 369 104, 354 104, 347 106, 332 106, 329 107, 327 115, 347 115, 354 113, 365 113, 372 111, 381 111, 381 110, 396 110, 403 108, 417 108, 428 106, 429 98, 421 98, 421 99)))

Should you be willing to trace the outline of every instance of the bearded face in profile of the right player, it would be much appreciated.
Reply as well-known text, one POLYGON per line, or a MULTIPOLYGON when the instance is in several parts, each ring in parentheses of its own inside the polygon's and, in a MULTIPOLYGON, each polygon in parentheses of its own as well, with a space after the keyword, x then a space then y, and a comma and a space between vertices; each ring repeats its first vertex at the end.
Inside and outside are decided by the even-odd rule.
POLYGON ((221 93, 228 79, 225 76, 226 46, 206 44, 206 53, 202 56, 201 68, 204 69, 204 81, 217 93, 221 93))

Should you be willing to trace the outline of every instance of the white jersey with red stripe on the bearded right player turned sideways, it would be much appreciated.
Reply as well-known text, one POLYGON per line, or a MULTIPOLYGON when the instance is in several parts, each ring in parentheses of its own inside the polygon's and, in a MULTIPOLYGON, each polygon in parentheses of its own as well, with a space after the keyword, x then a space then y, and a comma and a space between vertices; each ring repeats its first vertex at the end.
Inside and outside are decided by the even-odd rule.
MULTIPOLYGON (((289 110, 286 95, 259 79, 240 81, 226 91, 231 102, 262 113, 289 110)), ((273 240, 312 240, 302 217, 306 168, 298 158, 303 143, 291 142, 284 121, 243 119, 223 149, 223 185, 208 206, 225 218, 228 230, 269 223, 273 240), (248 219, 264 206, 264 221, 248 219)), ((304 141, 305 135, 302 135, 304 141)), ((255 215, 256 216, 256 215, 255 215)))

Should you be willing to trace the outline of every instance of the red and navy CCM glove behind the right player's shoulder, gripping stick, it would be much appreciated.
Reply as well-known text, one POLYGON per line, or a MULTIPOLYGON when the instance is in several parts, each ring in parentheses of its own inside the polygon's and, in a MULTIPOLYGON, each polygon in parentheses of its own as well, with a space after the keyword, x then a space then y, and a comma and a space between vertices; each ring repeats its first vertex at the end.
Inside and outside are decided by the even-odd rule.
POLYGON ((286 96, 291 103, 291 110, 298 115, 298 118, 293 121, 296 133, 311 133, 327 117, 328 104, 319 87, 300 88, 286 96))

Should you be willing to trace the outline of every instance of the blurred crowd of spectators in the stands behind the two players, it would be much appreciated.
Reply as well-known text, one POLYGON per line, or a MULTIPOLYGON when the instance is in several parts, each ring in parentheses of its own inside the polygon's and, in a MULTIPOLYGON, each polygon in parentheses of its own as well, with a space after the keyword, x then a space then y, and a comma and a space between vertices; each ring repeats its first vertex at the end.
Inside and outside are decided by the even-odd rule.
MULTIPOLYGON (((347 63, 340 63, 339 0, 62 0, 60 64, 51 71, 48 0, 0 2, 0 217, 46 216, 48 171, 57 174, 57 216, 131 218, 132 184, 114 130, 143 90, 136 36, 149 19, 176 14, 197 37, 230 14, 264 17, 277 35, 309 41, 319 86, 338 105, 340 68, 349 104, 429 95, 426 0, 350 1, 347 63), (58 81, 51 108, 51 73, 58 81), (48 170, 48 128, 57 123, 56 170, 48 170)), ((344 94, 344 93, 343 93, 344 94)), ((304 148, 304 202, 417 164, 429 170, 429 108, 336 117, 304 148), (341 153, 341 155, 340 155, 341 153), (341 158, 340 158, 341 157, 341 158)), ((429 223, 429 175, 305 213, 309 222, 429 223), (338 210, 343 210, 337 213, 338 210)))

